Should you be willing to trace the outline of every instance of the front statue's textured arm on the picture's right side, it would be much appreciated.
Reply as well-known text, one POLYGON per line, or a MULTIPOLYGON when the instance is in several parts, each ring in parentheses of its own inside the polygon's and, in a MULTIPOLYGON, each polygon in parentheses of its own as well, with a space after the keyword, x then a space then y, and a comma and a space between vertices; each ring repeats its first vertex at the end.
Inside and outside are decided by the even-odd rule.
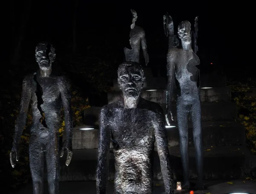
POLYGON ((160 159, 160 167, 163 175, 165 191, 166 194, 174 194, 173 171, 170 164, 167 132, 165 128, 164 114, 162 108, 154 126, 154 135, 157 145, 157 152, 160 159))

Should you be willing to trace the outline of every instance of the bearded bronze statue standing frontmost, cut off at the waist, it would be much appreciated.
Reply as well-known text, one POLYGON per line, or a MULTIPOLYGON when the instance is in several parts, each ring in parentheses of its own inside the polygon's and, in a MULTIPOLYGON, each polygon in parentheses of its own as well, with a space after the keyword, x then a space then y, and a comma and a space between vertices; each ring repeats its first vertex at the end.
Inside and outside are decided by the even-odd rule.
POLYGON ((123 100, 103 106, 99 115, 99 152, 96 170, 97 194, 106 194, 108 154, 113 142, 115 194, 151 194, 151 159, 156 142, 166 194, 174 194, 163 109, 140 97, 145 77, 136 62, 122 63, 118 84, 123 100))

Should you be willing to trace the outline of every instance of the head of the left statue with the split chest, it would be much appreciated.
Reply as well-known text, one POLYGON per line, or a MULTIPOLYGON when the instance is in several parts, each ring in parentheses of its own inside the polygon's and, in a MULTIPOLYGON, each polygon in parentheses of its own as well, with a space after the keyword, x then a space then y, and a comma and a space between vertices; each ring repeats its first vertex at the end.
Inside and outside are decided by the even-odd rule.
POLYGON ((35 60, 41 70, 48 70, 55 60, 55 48, 47 42, 38 43, 35 47, 35 60))

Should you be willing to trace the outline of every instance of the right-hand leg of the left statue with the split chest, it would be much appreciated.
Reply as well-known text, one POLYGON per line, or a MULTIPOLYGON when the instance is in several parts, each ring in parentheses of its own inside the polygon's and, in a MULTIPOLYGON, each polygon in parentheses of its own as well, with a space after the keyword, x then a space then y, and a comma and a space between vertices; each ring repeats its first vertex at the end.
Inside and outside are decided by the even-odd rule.
POLYGON ((47 180, 49 194, 59 193, 59 151, 58 134, 49 134, 46 150, 47 180))

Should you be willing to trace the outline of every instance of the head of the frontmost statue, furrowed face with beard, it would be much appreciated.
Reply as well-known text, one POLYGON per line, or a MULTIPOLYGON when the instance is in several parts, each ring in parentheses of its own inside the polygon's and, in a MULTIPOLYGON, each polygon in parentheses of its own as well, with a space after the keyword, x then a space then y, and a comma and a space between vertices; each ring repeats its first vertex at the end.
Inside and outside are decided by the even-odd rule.
POLYGON ((117 70, 119 88, 126 97, 139 97, 143 88, 145 77, 142 66, 137 62, 127 61, 121 63, 117 70))

